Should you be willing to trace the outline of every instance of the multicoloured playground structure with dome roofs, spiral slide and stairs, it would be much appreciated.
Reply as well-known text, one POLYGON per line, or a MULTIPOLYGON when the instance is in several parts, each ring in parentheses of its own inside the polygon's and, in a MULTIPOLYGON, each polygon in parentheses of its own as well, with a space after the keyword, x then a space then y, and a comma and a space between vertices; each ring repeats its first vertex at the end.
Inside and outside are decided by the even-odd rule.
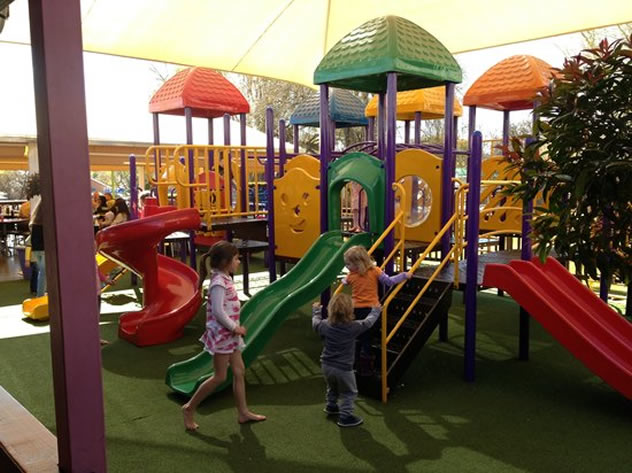
MULTIPOLYGON (((386 28, 395 36, 408 34, 402 33, 402 22, 405 22, 403 19, 386 17, 378 20, 375 24, 363 25, 360 29, 364 28, 366 32, 371 31, 371 28, 386 28)), ((356 33, 351 33, 350 37, 354 34, 356 33)), ((429 35, 421 29, 416 30, 413 36, 415 35, 418 35, 417 41, 426 44, 434 40, 431 37, 429 39, 429 35)), ((253 343, 247 345, 251 347, 247 348, 248 363, 260 353, 291 308, 308 302, 321 292, 327 297, 328 288, 341 269, 341 254, 351 244, 363 244, 372 246, 371 252, 381 260, 381 266, 386 271, 397 267, 399 270, 415 273, 415 277, 410 283, 397 286, 384 300, 380 340, 375 344, 380 372, 373 379, 361 380, 361 389, 379 395, 386 401, 389 386, 403 374, 435 327, 440 327, 442 340, 447 337, 446 317, 452 287, 465 287, 468 294, 466 378, 473 379, 472 333, 475 325, 472 322, 472 313, 475 314, 476 306, 475 292, 472 295, 472 291, 484 284, 478 274, 479 238, 501 236, 498 245, 501 253, 505 235, 522 234, 523 241, 528 242, 525 239, 528 221, 524 217, 522 206, 516 202, 507 203, 507 199, 500 193, 502 186, 516 182, 512 179, 514 176, 504 170, 502 157, 490 156, 482 164, 479 163, 480 167, 477 169, 476 160, 482 154, 482 145, 476 145, 472 138, 475 110, 476 106, 481 106, 504 111, 502 142, 507 144, 509 111, 533 107, 533 100, 529 101, 527 97, 533 97, 544 86, 543 83, 550 75, 550 66, 535 58, 518 56, 502 61, 483 75, 466 94, 466 104, 471 107, 470 150, 458 151, 457 116, 462 114, 462 110, 454 99, 453 84, 457 81, 460 70, 440 44, 433 44, 432 48, 446 54, 443 59, 448 64, 438 78, 432 78, 434 87, 403 91, 397 95, 393 95, 397 75, 390 76, 386 84, 380 85, 378 67, 367 85, 354 79, 355 66, 350 66, 349 70, 328 69, 328 61, 335 62, 335 59, 327 55, 315 73, 315 80, 322 82, 317 97, 320 112, 318 121, 314 118, 314 97, 304 107, 298 107, 290 119, 290 124, 295 127, 295 153, 285 151, 284 139, 278 153, 275 151, 271 110, 268 111, 266 120, 268 145, 265 148, 247 146, 243 133, 242 144, 231 145, 230 135, 226 132, 223 146, 212 143, 212 133, 209 133, 209 145, 190 144, 191 120, 194 116, 207 118, 209 130, 213 127, 212 119, 223 116, 227 130, 227 113, 239 113, 243 129, 247 103, 241 100, 243 97, 232 85, 214 71, 192 68, 179 72, 167 81, 150 103, 150 110, 154 113, 156 145, 148 148, 145 153, 145 169, 153 174, 150 182, 155 185, 158 202, 161 204, 156 209, 159 215, 138 222, 132 221, 99 234, 99 251, 144 276, 144 308, 140 312, 121 317, 120 336, 139 346, 166 343, 181 335, 182 328, 197 310, 199 291, 190 290, 191 287, 197 288, 195 273, 180 263, 154 254, 155 244, 167 234, 176 230, 191 230, 189 255, 190 264, 194 266, 196 244, 210 245, 218 239, 227 238, 229 235, 226 231, 237 233, 240 224, 265 224, 270 261, 285 259, 299 263, 286 278, 279 281, 284 284, 272 284, 271 289, 255 296, 250 306, 244 308, 244 323, 252 327, 250 333, 253 338, 253 343), (532 66, 535 79, 529 81, 528 77, 525 79, 518 74, 510 83, 513 89, 501 88, 494 95, 492 89, 494 81, 498 79, 498 70, 502 77, 513 77, 512 71, 523 70, 525 63, 532 66), (437 86, 439 83, 446 85, 437 86), (359 116, 358 109, 361 110, 362 107, 345 90, 338 89, 332 94, 332 103, 336 105, 337 98, 342 105, 330 105, 326 95, 329 84, 348 88, 359 86, 364 87, 361 89, 364 91, 378 91, 378 95, 365 110, 369 120, 359 116), (386 93, 380 92, 382 86, 386 88, 386 93), (204 88, 221 88, 229 90, 229 93, 224 102, 205 102, 199 93, 191 93, 204 88), (185 116, 189 144, 159 144, 159 113, 185 116), (421 120, 441 117, 446 130, 444 146, 422 143, 421 120), (403 144, 395 143, 394 127, 397 119, 405 121, 403 144), (415 133, 414 143, 411 143, 410 123, 413 120, 415 133), (376 121, 377 141, 371 141, 376 121), (298 127, 320 124, 323 124, 320 127, 320 155, 314 157, 297 154, 298 127), (368 140, 337 152, 334 131, 336 127, 345 126, 365 127, 365 137, 368 140), (455 156, 458 153, 468 157, 467 183, 455 176, 455 156), (362 177, 367 169, 375 169, 375 176, 379 177, 362 177), (483 176, 476 177, 481 169, 483 176), (474 174, 470 175, 471 172, 474 174), (478 182, 475 182, 476 179, 478 182), (327 182, 326 192, 322 192, 325 188, 323 182, 327 182), (369 218, 366 233, 349 237, 343 231, 342 222, 351 211, 349 192, 345 191, 351 182, 362 186, 367 196, 369 218), (480 190, 478 186, 481 186, 480 190), (477 194, 476 199, 472 197, 473 193, 477 194), (479 202, 484 204, 479 215, 474 216, 476 212, 472 210, 466 216, 467 199, 470 199, 467 206, 471 209, 478 208, 479 202), (185 214, 169 212, 176 209, 185 212, 186 217, 185 214), (326 209, 326 212, 322 209, 326 209), (199 216, 200 220, 195 220, 194 215, 199 216), (319 226, 315 224, 317 221, 319 226), (473 231, 476 233, 476 238, 470 237, 467 241, 466 221, 468 235, 473 235, 470 233, 473 231), (220 231, 216 230, 218 226, 220 231), (136 238, 141 235, 146 241, 130 251, 132 235, 136 238), (398 241, 397 244, 395 240, 398 241), (466 245, 467 254, 471 255, 467 260, 466 245), (411 248, 415 252, 411 252, 411 248), (440 254, 439 262, 432 270, 428 270, 428 267, 424 269, 424 263, 431 254, 440 254), (323 269, 321 258, 331 260, 331 264, 323 269), (476 274, 469 269, 473 264, 476 264, 476 274), (290 280, 297 283, 290 284, 290 280), (164 290, 165 281, 171 281, 168 285, 173 284, 180 288, 177 297, 175 292, 164 290), (167 300, 158 294, 171 295, 167 300), (263 298, 270 302, 263 302, 263 298), (277 302, 274 307, 269 307, 275 300, 277 302), (434 302, 429 303, 429 300, 434 302), (266 307, 269 314, 260 315, 257 307, 266 307), (251 322, 247 322, 248 319, 251 322), (376 388, 378 384, 379 389, 376 388)), ((361 49, 358 51, 360 61, 369 60, 370 52, 361 49)), ((335 57, 336 48, 330 54, 335 57)), ((395 51, 394 54, 401 53, 395 51)), ((413 58, 413 62, 415 60, 422 61, 425 58, 413 58)), ((382 64, 380 67, 386 65, 382 64)), ((405 77, 405 87, 417 85, 415 74, 405 77)), ((420 77, 424 77, 422 82, 426 84, 428 78, 423 74, 420 77)), ((284 137, 284 134, 285 124, 281 121, 280 135, 284 137)), ((130 162, 131 165, 135 164, 133 160, 130 162)), ((134 198, 133 195, 132 208, 136 208, 134 198)), ((523 243, 524 259, 530 258, 529 250, 528 243, 523 243)), ((520 265, 514 266, 523 268, 520 265)), ((274 282, 276 265, 270 264, 269 267, 270 280, 274 282)), ((247 274, 245 277, 247 278, 247 274)), ((491 284, 495 280, 490 277, 486 281, 491 284)), ((502 285, 498 282, 494 284, 502 285)), ((27 310, 32 317, 37 318, 44 313, 45 306, 29 301, 25 303, 25 313, 27 310)), ((523 311, 521 357, 526 357, 528 353, 527 317, 523 311)), ((191 394, 209 375, 211 367, 212 358, 201 354, 193 360, 170 368, 168 383, 178 392, 191 394)), ((621 382, 618 382, 618 386, 621 386, 621 382)))

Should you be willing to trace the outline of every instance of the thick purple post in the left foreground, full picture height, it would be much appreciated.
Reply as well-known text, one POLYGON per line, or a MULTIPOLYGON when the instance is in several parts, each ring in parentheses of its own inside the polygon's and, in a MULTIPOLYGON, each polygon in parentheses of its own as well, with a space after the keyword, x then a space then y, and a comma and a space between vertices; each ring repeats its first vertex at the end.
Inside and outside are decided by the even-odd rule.
POLYGON ((79 0, 30 0, 60 471, 106 471, 79 0), (69 193, 68 190, 73 192, 69 193), (77 198, 79 197, 79 198, 77 198))

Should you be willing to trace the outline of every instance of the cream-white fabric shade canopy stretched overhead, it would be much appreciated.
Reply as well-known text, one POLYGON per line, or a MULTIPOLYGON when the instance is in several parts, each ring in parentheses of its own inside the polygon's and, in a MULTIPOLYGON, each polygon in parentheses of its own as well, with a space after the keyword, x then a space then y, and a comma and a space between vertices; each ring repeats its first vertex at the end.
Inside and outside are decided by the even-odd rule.
MULTIPOLYGON (((453 54, 632 21, 630 0, 82 0, 81 5, 86 51, 308 86, 337 41, 383 15, 417 23, 453 54)), ((0 41, 29 41, 26 9, 26 1, 11 5, 0 41)))

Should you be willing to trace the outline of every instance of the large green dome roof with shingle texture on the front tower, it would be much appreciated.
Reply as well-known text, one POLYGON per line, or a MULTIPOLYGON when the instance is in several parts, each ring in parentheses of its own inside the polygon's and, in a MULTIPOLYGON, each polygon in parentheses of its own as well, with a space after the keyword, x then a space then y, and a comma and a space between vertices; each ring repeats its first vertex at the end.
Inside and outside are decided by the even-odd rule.
POLYGON ((458 63, 434 36, 404 18, 384 16, 338 41, 316 68, 314 83, 385 92, 388 72, 397 72, 399 91, 462 80, 458 63))

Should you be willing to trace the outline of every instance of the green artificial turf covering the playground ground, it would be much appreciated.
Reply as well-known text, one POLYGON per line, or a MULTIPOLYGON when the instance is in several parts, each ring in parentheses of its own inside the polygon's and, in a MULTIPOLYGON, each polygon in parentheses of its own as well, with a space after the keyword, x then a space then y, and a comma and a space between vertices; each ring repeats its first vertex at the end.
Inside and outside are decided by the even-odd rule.
MULTIPOLYGON (((0 285, 0 306, 19 285, 0 285)), ((24 291, 26 291, 24 283, 24 291)), ((107 459, 111 472, 625 472, 632 403, 531 322, 531 360, 516 360, 518 307, 480 294, 475 383, 463 376, 461 294, 449 341, 433 336, 388 404, 360 399, 364 425, 340 429, 322 412, 324 385, 309 307, 290 317, 248 370, 248 401, 266 422, 239 426, 230 392, 186 433, 166 367, 196 354, 203 314, 185 336, 137 348, 102 317, 107 459)), ((16 315, 19 317, 19 314, 16 315)), ((0 327, 1 330, 1 327, 0 327)), ((54 431, 49 336, 0 339, 0 384, 54 431)))

